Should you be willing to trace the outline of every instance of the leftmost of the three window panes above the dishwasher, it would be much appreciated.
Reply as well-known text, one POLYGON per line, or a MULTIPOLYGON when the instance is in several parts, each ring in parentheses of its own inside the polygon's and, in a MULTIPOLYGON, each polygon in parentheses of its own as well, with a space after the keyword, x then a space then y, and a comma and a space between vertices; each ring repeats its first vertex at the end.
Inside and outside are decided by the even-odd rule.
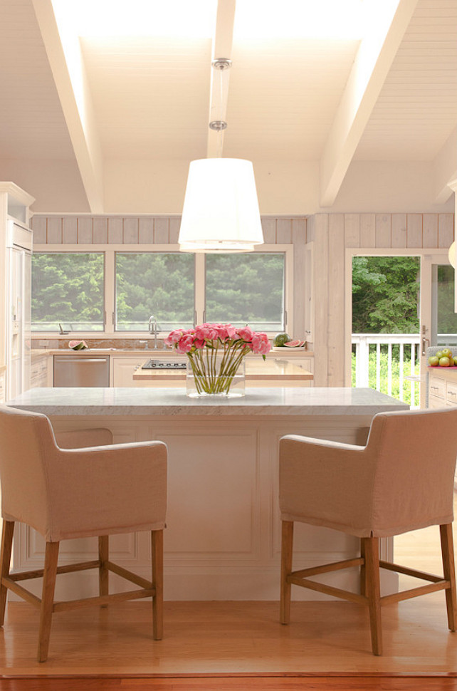
POLYGON ((31 330, 103 331, 103 253, 33 254, 31 330))

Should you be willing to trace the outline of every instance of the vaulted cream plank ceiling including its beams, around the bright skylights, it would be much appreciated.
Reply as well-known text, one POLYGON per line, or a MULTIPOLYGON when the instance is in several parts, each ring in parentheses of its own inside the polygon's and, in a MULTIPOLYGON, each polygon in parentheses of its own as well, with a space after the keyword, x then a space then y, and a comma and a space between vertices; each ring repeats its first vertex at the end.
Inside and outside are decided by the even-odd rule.
MULTIPOLYGON (((253 161, 266 214, 367 210, 364 184, 384 186, 395 206, 399 179, 402 210, 416 210, 414 189, 424 211, 452 209, 457 0, 363 0, 375 21, 350 38, 299 26, 286 36, 280 21, 277 35, 243 33, 237 11, 256 1, 258 26, 289 11, 197 0, 188 5, 214 14, 202 14, 207 36, 147 26, 100 37, 62 24, 52 0, 2 0, 1 179, 33 194, 36 210, 172 214, 189 162, 222 153, 253 161), (231 59, 227 74, 214 58, 231 59), (209 130, 214 119, 228 123, 223 133, 209 130)), ((315 2, 301 2, 312 15, 315 2)))

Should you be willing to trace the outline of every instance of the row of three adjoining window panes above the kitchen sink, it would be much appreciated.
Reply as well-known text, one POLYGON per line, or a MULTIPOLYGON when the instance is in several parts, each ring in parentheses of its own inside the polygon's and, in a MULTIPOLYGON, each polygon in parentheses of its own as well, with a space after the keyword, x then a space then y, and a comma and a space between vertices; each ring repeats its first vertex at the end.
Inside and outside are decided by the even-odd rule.
MULTIPOLYGON (((32 330, 161 337, 204 321, 293 330, 293 248, 188 254, 173 246, 50 246, 32 258, 32 330)), ((71 338, 71 336, 70 336, 71 338)))

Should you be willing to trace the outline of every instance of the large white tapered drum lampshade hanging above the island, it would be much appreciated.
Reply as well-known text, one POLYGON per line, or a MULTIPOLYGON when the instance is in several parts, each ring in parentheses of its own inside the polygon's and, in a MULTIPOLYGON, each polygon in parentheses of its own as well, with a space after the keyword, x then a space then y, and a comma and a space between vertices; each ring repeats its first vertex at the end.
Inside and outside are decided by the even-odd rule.
POLYGON ((179 229, 179 249, 250 252, 262 243, 251 161, 239 158, 192 161, 179 229))

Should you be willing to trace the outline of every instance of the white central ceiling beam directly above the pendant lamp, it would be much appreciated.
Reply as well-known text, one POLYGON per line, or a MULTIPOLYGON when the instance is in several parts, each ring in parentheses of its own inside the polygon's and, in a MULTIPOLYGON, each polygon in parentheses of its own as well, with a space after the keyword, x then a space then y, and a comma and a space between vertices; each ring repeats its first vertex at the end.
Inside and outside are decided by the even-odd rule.
MULTIPOLYGON (((236 0, 218 0, 216 30, 213 40, 212 60, 226 58, 231 60, 233 43, 233 23, 235 21, 236 0)), ((226 120, 227 100, 229 98, 230 69, 220 71, 211 67, 211 91, 209 98, 209 120, 226 120)), ((222 155, 224 130, 217 132, 208 128, 206 157, 222 155)))

